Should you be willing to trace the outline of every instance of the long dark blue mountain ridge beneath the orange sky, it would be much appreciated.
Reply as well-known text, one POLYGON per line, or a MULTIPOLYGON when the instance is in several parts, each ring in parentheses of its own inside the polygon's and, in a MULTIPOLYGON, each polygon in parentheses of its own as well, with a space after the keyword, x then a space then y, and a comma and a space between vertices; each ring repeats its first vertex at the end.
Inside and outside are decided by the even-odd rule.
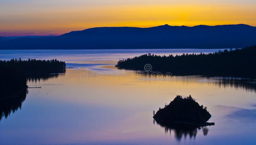
POLYGON ((0 41, 0 49, 241 48, 256 44, 256 27, 161 25, 150 28, 98 27, 60 36, 0 41))

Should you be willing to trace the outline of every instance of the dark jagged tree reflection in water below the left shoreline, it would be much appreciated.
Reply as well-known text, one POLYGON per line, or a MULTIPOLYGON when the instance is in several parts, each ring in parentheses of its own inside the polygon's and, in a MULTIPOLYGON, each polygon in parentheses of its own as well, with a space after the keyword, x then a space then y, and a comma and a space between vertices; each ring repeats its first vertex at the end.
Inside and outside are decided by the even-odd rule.
POLYGON ((11 112, 16 112, 19 108, 21 109, 22 102, 25 101, 28 94, 28 89, 21 89, 19 92, 13 94, 9 92, 10 95, 3 96, 0 99, 0 120, 2 117, 7 118, 10 116, 11 112))

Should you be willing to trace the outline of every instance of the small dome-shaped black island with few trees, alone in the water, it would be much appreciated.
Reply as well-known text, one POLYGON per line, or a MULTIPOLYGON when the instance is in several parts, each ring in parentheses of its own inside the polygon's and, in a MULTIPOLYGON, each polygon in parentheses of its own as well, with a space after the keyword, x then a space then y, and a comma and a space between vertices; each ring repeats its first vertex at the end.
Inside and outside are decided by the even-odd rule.
POLYGON ((207 121, 212 115, 207 111, 207 107, 199 105, 189 95, 187 98, 177 96, 169 105, 165 105, 164 108, 159 108, 156 112, 153 112, 153 118, 157 122, 162 123, 174 123, 174 124, 187 124, 195 126, 208 126, 214 125, 214 123, 208 123, 207 121))

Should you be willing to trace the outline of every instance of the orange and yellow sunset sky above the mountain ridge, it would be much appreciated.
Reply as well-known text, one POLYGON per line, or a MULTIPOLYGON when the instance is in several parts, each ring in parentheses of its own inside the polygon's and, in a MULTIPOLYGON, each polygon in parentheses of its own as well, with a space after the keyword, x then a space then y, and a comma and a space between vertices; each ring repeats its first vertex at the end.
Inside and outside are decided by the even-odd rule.
POLYGON ((256 0, 1 0, 0 36, 60 35, 92 27, 256 26, 256 0))

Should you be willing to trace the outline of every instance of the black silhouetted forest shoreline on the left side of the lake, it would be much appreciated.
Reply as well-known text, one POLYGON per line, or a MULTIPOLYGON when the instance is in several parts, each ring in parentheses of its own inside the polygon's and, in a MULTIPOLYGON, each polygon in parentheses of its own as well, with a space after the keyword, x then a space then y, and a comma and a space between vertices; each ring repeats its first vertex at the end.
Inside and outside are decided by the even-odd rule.
MULTIPOLYGON (((51 61, 36 59, 28 59, 27 61, 22 61, 21 59, 0 60, 0 76, 2 77, 0 82, 0 98, 6 95, 12 96, 9 92, 18 93, 20 89, 27 88, 28 78, 34 79, 35 75, 38 74, 42 76, 47 73, 63 73, 65 72, 65 67, 65 62, 56 59, 51 61), (28 74, 27 78, 26 75, 28 74)), ((36 79, 41 78, 40 76, 37 76, 36 79)), ((43 79, 47 79, 47 76, 44 76, 43 79)))

